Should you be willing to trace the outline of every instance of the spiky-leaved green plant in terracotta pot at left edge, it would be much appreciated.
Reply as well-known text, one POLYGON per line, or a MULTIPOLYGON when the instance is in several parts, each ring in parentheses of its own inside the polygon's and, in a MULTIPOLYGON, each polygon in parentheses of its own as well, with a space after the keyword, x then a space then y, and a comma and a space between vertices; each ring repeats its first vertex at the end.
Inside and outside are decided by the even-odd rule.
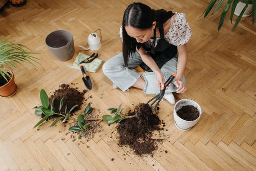
MULTIPOLYGON (((15 94, 17 87, 14 82, 14 74, 11 68, 17 68, 16 63, 29 62, 33 66, 38 63, 30 50, 24 45, 15 44, 13 41, 0 41, 0 96, 9 97, 15 94)), ((35 66, 36 67, 36 66, 35 66)))

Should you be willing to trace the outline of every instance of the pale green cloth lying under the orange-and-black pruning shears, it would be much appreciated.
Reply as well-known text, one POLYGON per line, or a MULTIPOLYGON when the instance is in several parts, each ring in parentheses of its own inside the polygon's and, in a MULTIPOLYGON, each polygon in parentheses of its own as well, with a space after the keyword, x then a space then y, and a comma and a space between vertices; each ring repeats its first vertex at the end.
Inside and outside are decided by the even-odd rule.
MULTIPOLYGON (((89 58, 90 56, 83 54, 83 53, 79 53, 73 63, 73 66, 69 66, 66 65, 66 68, 73 68, 73 69, 77 69, 80 70, 79 68, 79 63, 81 61, 83 61, 84 59, 89 58)), ((88 71, 88 72, 96 72, 98 70, 98 68, 101 65, 102 60, 95 58, 93 61, 91 61, 90 63, 82 63, 84 70, 88 71)))

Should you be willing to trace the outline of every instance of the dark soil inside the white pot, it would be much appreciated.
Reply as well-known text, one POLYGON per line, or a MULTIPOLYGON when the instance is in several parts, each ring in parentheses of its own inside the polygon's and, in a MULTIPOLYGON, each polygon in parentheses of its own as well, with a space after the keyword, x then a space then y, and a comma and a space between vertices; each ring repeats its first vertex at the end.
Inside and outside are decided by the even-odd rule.
POLYGON ((199 111, 193 105, 184 105, 177 111, 177 115, 184 120, 193 121, 199 117, 199 111))

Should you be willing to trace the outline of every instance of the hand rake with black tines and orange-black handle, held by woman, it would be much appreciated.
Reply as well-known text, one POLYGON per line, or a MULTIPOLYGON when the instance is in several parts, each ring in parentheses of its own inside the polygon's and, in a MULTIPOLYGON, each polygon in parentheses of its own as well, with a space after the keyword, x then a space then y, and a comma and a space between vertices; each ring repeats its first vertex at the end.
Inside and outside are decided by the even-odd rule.
POLYGON ((156 108, 158 106, 158 104, 160 103, 160 101, 162 100, 163 96, 164 96, 164 93, 165 93, 165 89, 166 87, 170 84, 170 82, 172 82, 172 80, 175 78, 176 74, 173 73, 164 83, 164 87, 161 87, 160 89, 160 93, 158 93, 155 97, 153 97, 152 99, 148 100, 147 101, 147 104, 150 105, 150 107, 152 108, 152 106, 155 104, 155 102, 157 101, 157 103, 155 104, 155 111, 156 111, 156 108), (154 100, 155 99, 155 100, 154 100), (154 100, 154 101, 153 101, 154 100), (150 102, 153 101, 151 104, 150 102))

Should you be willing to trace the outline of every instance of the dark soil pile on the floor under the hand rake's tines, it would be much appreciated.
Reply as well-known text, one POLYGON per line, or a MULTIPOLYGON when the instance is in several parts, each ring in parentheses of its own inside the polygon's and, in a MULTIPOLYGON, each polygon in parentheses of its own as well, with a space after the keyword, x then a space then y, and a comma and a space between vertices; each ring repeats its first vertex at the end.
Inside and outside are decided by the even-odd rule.
POLYGON ((137 155, 152 154, 157 149, 156 141, 152 139, 152 132, 160 130, 160 119, 153 113, 148 104, 139 103, 133 112, 127 115, 137 115, 135 118, 124 119, 117 127, 119 145, 131 147, 137 155))

